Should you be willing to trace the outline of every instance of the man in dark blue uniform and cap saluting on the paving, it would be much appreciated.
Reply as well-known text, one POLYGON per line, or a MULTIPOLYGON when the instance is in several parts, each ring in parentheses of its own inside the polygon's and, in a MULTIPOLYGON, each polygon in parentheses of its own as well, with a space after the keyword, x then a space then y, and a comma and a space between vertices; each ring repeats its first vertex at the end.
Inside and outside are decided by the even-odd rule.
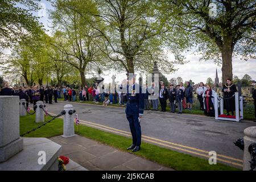
POLYGON ((127 150, 137 152, 141 149, 141 118, 144 110, 144 94, 142 88, 135 83, 135 76, 129 74, 129 85, 127 85, 127 105, 125 109, 126 118, 129 121, 133 144, 127 150))

